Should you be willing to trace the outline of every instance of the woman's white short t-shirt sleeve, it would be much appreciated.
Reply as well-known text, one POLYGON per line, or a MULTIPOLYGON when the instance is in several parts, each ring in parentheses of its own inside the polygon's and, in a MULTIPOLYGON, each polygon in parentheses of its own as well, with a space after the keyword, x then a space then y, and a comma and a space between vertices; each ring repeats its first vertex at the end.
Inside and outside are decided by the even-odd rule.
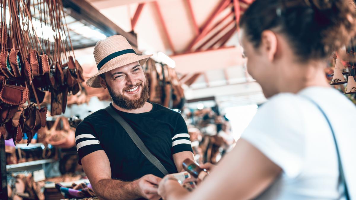
POLYGON ((293 94, 279 94, 258 109, 241 138, 259 149, 290 177, 302 170, 305 154, 303 101, 293 94))

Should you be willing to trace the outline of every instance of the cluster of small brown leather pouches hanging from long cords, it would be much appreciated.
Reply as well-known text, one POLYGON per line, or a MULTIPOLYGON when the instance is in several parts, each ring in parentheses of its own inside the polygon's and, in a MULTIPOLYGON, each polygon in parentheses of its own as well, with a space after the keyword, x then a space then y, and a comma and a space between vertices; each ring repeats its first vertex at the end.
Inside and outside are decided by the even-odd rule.
POLYGON ((19 142, 27 133, 27 143, 46 125, 47 107, 40 105, 45 92, 51 93, 51 115, 60 115, 66 110, 68 93, 77 94, 84 81, 62 1, 37 2, 38 13, 30 2, 0 1, 0 134, 19 142), (50 27, 51 34, 45 34, 42 26, 50 27))

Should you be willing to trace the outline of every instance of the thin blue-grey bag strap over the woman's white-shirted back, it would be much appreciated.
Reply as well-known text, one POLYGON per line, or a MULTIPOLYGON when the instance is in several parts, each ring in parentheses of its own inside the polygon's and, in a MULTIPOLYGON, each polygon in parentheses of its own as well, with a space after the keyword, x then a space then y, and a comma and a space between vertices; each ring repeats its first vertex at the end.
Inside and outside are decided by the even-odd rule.
POLYGON ((320 110, 320 112, 324 115, 326 121, 329 124, 331 133, 333 133, 333 138, 334 138, 334 142, 335 142, 335 147, 336 147, 336 153, 337 153, 337 162, 339 163, 339 174, 340 174, 340 181, 341 184, 344 184, 344 190, 345 190, 345 198, 346 200, 350 200, 350 195, 349 195, 349 190, 347 188, 347 184, 346 184, 346 180, 345 180, 345 175, 344 175, 344 169, 342 168, 342 163, 341 163, 341 158, 340 158, 340 152, 339 152, 339 147, 337 146, 337 141, 336 141, 336 137, 335 137, 335 133, 334 133, 334 129, 333 126, 331 126, 331 123, 329 121, 328 116, 326 116, 324 110, 319 106, 318 103, 316 103, 313 99, 307 97, 307 96, 303 96, 305 99, 308 99, 310 102, 312 102, 316 107, 318 107, 318 109, 320 110))

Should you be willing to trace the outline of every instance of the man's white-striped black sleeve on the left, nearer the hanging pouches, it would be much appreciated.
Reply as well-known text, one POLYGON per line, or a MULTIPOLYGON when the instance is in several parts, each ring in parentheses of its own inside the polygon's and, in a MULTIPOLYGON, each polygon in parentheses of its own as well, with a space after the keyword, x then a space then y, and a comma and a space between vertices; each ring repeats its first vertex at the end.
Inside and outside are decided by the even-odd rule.
POLYGON ((79 164, 82 158, 95 151, 103 150, 94 127, 87 121, 81 122, 75 129, 75 144, 79 155, 79 164))

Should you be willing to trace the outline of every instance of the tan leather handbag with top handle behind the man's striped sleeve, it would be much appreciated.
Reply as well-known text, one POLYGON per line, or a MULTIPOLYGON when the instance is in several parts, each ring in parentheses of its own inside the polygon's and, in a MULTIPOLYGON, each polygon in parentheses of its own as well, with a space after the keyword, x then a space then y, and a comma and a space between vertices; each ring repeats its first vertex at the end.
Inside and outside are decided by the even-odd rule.
POLYGON ((58 117, 51 129, 48 131, 46 142, 55 147, 71 148, 75 145, 75 131, 70 127, 66 117, 58 117), (58 127, 62 122, 62 127, 58 127))

